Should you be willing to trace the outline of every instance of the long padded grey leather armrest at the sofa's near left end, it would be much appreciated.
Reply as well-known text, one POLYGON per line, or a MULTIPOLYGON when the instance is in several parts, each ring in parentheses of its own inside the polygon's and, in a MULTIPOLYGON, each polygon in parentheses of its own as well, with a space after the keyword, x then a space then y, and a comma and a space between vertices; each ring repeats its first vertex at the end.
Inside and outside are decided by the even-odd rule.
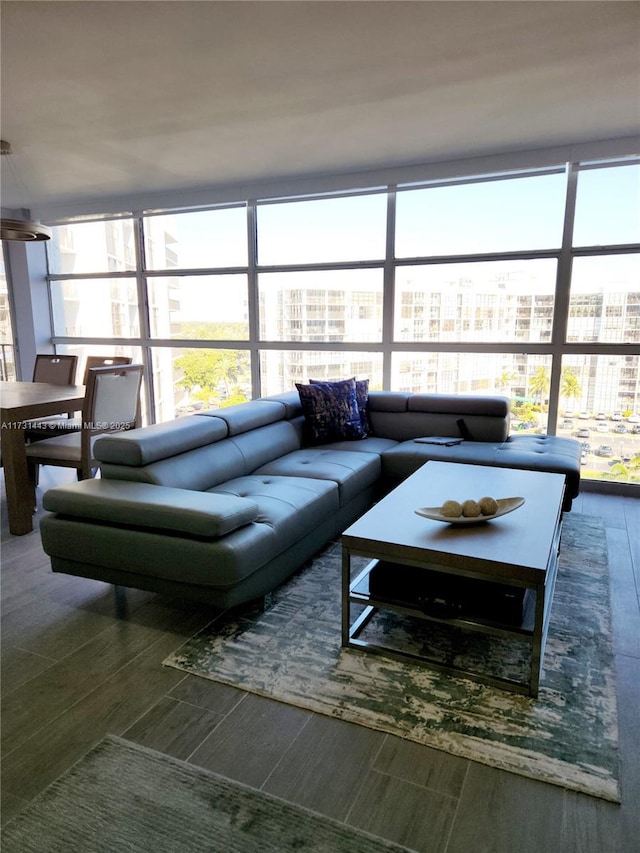
POLYGON ((43 507, 77 518, 204 539, 219 539, 258 516, 253 501, 236 495, 102 479, 49 489, 44 494, 43 507))

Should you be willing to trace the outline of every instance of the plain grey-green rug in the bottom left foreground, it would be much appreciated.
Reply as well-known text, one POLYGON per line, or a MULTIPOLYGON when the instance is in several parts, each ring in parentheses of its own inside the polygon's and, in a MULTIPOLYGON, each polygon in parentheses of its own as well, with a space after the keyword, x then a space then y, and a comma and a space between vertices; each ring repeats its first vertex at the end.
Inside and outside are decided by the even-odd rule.
POLYGON ((2 853, 406 853, 238 782, 113 736, 2 833, 2 853))

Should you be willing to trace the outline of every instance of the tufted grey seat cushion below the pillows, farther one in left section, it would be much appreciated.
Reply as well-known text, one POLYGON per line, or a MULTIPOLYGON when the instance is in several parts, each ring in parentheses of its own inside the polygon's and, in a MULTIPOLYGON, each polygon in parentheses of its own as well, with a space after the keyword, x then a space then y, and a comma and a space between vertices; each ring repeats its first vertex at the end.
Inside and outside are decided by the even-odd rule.
POLYGON ((254 474, 331 481, 338 486, 340 506, 344 506, 375 483, 381 470, 377 453, 309 447, 274 459, 254 474))

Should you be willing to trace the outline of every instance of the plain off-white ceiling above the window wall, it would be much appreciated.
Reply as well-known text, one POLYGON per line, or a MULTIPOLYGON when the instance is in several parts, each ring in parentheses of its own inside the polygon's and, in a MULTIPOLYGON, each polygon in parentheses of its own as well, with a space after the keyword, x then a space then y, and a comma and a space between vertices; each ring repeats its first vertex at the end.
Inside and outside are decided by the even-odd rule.
POLYGON ((640 131, 637 2, 3 0, 2 206, 640 131))

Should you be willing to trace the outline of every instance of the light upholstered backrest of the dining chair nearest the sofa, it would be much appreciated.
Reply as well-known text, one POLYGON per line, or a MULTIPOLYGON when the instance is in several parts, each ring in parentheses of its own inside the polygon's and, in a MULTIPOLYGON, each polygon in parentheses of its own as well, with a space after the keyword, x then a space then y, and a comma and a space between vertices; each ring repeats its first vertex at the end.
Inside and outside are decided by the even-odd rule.
POLYGON ((142 372, 141 364, 89 369, 82 408, 82 438, 87 445, 95 433, 140 426, 142 372))

